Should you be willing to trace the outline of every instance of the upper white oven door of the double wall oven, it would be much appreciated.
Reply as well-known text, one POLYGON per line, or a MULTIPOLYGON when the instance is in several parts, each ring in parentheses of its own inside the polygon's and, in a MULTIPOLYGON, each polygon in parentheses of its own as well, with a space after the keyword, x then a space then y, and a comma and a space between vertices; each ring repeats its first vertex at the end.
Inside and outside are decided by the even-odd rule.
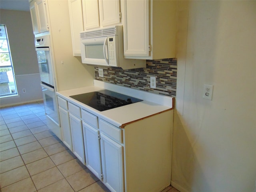
POLYGON ((54 70, 49 48, 36 48, 41 82, 54 86, 54 70))

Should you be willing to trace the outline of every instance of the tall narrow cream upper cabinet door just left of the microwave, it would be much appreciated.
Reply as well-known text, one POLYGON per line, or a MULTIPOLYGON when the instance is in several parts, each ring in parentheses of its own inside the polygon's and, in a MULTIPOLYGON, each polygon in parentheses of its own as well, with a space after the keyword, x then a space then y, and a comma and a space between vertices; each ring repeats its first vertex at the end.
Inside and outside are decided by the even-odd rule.
POLYGON ((80 32, 84 30, 82 1, 68 0, 73 55, 81 56, 80 32))

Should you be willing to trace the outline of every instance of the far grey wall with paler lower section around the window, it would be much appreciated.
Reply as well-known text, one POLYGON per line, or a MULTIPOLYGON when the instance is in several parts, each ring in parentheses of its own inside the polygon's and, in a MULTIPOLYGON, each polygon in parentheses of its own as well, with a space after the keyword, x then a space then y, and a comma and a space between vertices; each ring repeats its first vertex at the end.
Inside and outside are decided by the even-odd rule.
POLYGON ((1 107, 42 100, 30 12, 1 9, 0 18, 7 27, 18 92, 18 96, 1 98, 1 107))

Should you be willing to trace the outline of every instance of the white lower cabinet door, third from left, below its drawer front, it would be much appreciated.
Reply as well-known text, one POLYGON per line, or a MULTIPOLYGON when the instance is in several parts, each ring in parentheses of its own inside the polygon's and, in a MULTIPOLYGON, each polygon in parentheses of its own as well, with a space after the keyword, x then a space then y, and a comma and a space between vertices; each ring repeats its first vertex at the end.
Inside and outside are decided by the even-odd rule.
POLYGON ((83 122, 86 166, 101 179, 99 131, 83 122))

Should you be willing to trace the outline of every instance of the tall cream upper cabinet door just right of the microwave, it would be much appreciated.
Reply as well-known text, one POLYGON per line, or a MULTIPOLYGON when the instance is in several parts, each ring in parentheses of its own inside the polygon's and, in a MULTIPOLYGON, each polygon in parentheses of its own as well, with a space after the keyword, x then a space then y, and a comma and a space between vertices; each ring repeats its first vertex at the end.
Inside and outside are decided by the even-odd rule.
POLYGON ((124 56, 149 56, 149 1, 124 1, 124 56))

